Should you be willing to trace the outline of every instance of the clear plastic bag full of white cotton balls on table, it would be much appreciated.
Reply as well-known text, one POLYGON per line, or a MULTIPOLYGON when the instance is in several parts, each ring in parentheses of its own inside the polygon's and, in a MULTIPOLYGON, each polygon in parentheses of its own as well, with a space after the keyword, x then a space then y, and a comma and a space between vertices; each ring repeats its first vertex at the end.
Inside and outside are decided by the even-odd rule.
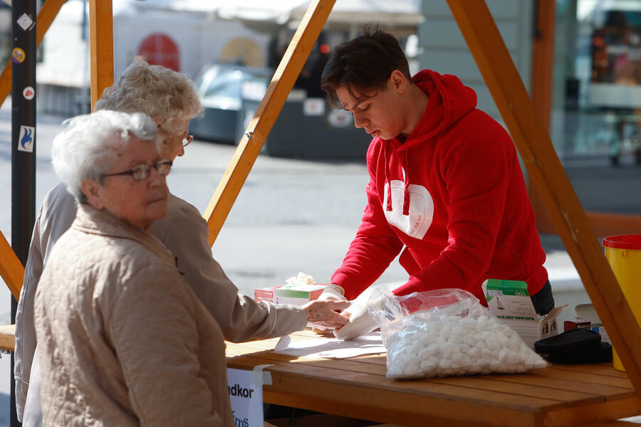
POLYGON ((402 297, 375 292, 368 311, 382 332, 389 378, 516 373, 548 366, 464 290, 402 297))

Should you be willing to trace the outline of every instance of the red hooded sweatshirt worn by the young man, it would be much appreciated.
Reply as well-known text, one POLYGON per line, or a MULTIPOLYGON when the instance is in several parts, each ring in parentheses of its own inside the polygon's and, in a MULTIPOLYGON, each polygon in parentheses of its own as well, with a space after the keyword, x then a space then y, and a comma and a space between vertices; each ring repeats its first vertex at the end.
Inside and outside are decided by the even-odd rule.
POLYGON ((396 295, 460 288, 485 304, 488 278, 523 280, 536 294, 546 254, 514 143, 456 76, 422 70, 412 80, 427 108, 405 142, 372 139, 368 206, 332 283, 352 300, 405 246, 410 279, 396 295))

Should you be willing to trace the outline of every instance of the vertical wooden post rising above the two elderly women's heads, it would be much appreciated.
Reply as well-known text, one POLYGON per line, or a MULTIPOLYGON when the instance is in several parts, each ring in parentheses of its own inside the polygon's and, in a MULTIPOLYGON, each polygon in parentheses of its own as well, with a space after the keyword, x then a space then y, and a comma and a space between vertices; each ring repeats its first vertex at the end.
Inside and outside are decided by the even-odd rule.
POLYGON ((91 111, 113 85, 113 12, 111 0, 89 0, 91 111))

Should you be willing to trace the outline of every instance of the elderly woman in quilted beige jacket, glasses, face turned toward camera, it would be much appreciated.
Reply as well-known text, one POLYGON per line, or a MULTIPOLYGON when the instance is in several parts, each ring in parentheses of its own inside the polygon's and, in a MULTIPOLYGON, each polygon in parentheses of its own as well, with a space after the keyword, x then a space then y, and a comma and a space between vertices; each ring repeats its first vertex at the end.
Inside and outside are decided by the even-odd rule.
POLYGON ((172 165, 156 140, 150 117, 99 111, 53 141, 78 211, 36 292, 46 426, 234 426, 222 332, 148 233, 172 165))

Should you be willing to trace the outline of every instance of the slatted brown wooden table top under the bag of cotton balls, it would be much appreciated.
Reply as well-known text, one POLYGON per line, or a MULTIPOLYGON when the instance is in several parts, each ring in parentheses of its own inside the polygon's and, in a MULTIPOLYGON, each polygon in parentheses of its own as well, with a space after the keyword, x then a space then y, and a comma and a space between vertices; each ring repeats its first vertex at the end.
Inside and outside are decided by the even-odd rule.
MULTIPOLYGON (((311 331, 292 340, 313 339, 311 331)), ((227 343, 227 366, 271 364, 264 401, 406 426, 585 426, 641 414, 612 364, 553 365, 527 374, 394 380, 385 354, 306 359, 276 354, 278 339, 227 343)))

